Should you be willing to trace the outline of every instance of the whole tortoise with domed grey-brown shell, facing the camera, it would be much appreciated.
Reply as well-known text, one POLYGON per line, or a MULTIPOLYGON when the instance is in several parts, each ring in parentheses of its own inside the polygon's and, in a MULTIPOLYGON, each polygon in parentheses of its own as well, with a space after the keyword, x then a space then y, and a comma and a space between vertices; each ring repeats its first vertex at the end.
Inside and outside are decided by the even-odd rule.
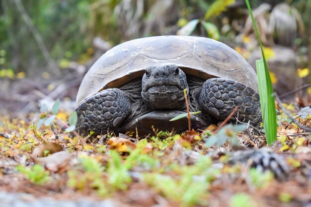
POLYGON ((261 119, 254 69, 232 48, 205 37, 156 36, 124 42, 107 51, 84 76, 78 90, 80 134, 153 129, 182 132, 187 119, 205 128, 225 120, 258 126, 261 119))

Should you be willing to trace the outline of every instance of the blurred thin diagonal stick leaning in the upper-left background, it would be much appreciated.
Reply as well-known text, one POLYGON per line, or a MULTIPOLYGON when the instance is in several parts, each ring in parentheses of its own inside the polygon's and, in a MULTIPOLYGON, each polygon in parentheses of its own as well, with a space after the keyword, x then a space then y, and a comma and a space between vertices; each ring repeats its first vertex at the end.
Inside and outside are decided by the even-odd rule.
POLYGON ((29 15, 27 14, 25 7, 23 6, 22 2, 20 0, 13 0, 14 3, 16 4, 16 7, 19 11, 19 13, 21 14, 23 20, 25 21, 28 29, 30 30, 30 32, 32 33, 35 41, 37 42, 39 49, 42 52, 42 55, 44 57, 44 59, 46 60, 46 62, 48 63, 48 65, 51 67, 51 71, 53 71, 54 74, 56 75, 60 75, 61 72, 57 66, 57 64, 55 63, 55 61, 53 60, 53 58, 51 57, 48 49, 46 48, 38 30, 36 29, 36 27, 34 26, 34 24, 31 21, 31 18, 29 17, 29 15))

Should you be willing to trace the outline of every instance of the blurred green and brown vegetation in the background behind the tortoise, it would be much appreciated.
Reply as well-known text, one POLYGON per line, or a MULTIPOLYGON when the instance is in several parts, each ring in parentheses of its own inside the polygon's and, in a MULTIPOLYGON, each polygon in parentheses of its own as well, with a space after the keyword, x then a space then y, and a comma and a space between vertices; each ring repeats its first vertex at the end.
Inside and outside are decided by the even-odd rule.
MULTIPOLYGON (((280 93, 310 83, 311 0, 251 4, 280 93), (282 83, 284 73, 292 84, 282 83)), ((85 66, 83 76, 114 45, 176 34, 220 40, 253 67, 260 58, 244 0, 0 0, 0 81, 59 79, 77 66, 85 66)))

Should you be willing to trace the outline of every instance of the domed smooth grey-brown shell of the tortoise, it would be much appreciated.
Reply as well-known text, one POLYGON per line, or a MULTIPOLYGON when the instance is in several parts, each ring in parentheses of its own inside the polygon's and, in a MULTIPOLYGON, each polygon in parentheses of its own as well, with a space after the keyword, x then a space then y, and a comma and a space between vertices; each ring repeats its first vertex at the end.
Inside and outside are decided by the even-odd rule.
POLYGON ((202 79, 231 79, 258 91, 254 69, 229 46, 205 37, 156 36, 124 42, 103 54, 84 76, 77 104, 103 88, 118 88, 142 77, 147 67, 161 64, 175 64, 202 79))

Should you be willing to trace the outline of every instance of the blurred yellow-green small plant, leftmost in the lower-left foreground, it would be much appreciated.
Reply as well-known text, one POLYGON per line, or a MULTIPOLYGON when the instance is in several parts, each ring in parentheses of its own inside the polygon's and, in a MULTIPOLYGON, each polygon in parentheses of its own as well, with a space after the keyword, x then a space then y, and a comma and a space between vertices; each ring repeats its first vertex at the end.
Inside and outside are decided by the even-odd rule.
POLYGON ((38 164, 32 166, 31 169, 23 165, 18 165, 16 170, 27 175, 28 180, 38 185, 45 184, 51 180, 50 173, 38 164))

